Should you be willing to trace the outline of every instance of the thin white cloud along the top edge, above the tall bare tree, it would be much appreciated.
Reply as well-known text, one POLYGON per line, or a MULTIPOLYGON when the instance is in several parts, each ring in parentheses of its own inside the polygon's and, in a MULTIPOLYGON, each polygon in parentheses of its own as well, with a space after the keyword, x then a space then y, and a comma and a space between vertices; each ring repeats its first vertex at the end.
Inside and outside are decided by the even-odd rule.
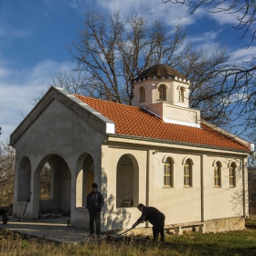
MULTIPOLYGON (((196 23, 196 21, 202 17, 208 16, 208 18, 215 20, 219 25, 229 24, 236 26, 238 24, 237 17, 242 16, 241 12, 226 14, 224 12, 216 13, 217 9, 207 8, 208 6, 200 6, 196 12, 191 15, 192 8, 186 5, 166 3, 163 4, 159 0, 110 0, 101 1, 97 0, 97 4, 107 9, 109 13, 115 11, 121 11, 123 16, 129 14, 138 14, 146 17, 149 20, 159 19, 165 21, 169 26, 175 26, 176 21, 180 18, 183 26, 188 26, 196 23), (209 12, 208 12, 209 11, 209 12)), ((223 5, 223 7, 227 7, 223 5)))

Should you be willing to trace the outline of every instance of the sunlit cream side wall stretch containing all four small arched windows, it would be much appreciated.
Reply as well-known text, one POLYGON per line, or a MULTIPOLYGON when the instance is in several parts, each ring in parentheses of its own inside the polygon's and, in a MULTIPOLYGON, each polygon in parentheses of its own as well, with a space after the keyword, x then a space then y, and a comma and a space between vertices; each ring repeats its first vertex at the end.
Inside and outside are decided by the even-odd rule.
MULTIPOLYGON (((218 154, 217 154, 218 155, 218 154)), ((165 213, 166 224, 204 221, 243 216, 248 212, 247 170, 242 168, 241 158, 213 155, 187 155, 174 152, 157 152, 155 155, 154 182, 151 182, 150 204, 165 213), (174 160, 174 187, 163 186, 163 157, 174 160), (192 187, 184 187, 183 160, 190 158, 192 165, 192 187), (204 159, 202 164, 202 159, 204 159), (220 161, 221 187, 214 187, 213 162, 220 161), (229 187, 229 164, 235 162, 236 186, 229 187), (243 187, 243 174, 245 187, 243 187), (201 180, 202 179, 202 180, 201 180), (154 184, 155 183, 155 184, 154 184), (202 187, 203 186, 203 187, 202 187), (152 190, 154 189, 154 190, 152 190), (243 195, 243 193, 245 195, 243 195)))

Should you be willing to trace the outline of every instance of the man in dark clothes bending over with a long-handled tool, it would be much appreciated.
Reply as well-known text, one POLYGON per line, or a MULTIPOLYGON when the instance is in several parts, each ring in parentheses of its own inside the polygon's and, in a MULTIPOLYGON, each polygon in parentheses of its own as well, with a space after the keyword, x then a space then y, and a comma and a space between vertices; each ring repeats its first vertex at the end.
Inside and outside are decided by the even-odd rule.
POLYGON ((153 207, 145 207, 143 204, 139 204, 137 207, 141 212, 142 215, 137 221, 133 224, 132 228, 134 229, 137 225, 148 220, 152 225, 153 229, 153 241, 156 242, 158 240, 158 236, 160 233, 161 240, 165 241, 165 215, 157 208, 153 207))

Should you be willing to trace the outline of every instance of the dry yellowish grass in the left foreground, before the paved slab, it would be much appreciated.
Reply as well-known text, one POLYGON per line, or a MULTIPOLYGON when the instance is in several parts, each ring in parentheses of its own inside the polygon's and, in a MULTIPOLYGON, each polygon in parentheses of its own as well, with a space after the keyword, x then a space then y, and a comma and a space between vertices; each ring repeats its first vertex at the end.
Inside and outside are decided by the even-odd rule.
POLYGON ((5 255, 181 255, 161 245, 130 242, 93 242, 86 244, 54 244, 35 239, 25 240, 18 234, 0 230, 0 254, 5 255))

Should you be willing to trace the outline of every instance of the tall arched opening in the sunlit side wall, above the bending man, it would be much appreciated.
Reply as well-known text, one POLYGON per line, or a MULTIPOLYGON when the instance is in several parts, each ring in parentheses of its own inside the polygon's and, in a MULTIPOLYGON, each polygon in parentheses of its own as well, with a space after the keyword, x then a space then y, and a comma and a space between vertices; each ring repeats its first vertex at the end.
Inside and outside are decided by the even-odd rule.
POLYGON ((133 155, 122 155, 116 169, 116 207, 136 206, 138 204, 139 169, 133 155), (126 203, 125 203, 126 202, 126 203))

